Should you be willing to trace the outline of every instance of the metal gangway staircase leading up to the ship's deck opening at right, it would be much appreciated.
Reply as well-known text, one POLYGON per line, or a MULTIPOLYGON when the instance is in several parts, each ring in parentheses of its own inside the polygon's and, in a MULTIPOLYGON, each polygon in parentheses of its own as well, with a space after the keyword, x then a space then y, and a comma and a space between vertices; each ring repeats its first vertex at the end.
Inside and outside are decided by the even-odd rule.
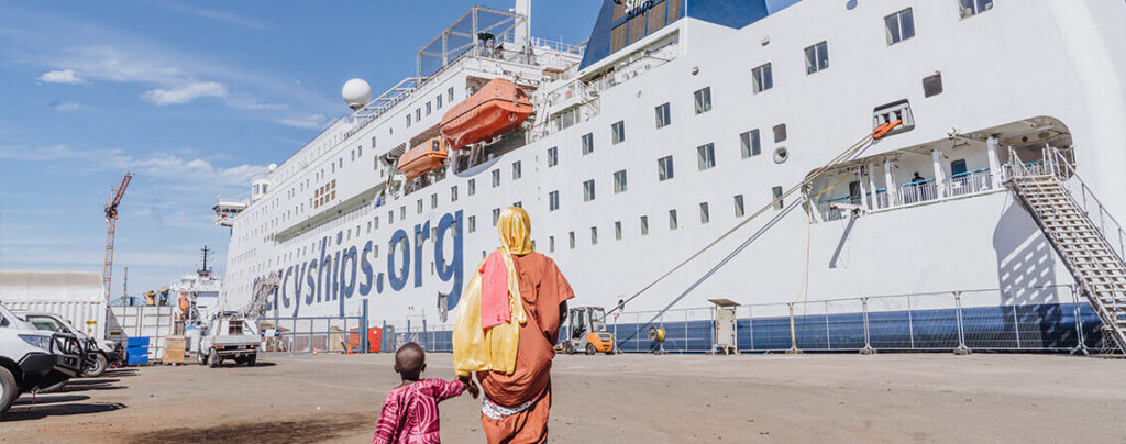
POLYGON ((1063 153, 1053 147, 1045 147, 1043 153, 1043 161, 1026 164, 1010 148, 1006 185, 1028 209, 1099 316, 1103 344, 1112 342, 1126 352, 1126 232, 1080 180, 1063 153), (1078 188, 1082 205, 1069 188, 1078 188))

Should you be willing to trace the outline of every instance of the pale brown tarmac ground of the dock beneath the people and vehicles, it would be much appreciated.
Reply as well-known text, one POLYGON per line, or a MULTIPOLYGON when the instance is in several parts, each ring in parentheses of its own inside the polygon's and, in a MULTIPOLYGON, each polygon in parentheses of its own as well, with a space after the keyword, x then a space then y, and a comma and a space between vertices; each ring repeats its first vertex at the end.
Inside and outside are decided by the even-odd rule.
MULTIPOLYGON (((17 400, 0 442, 369 443, 390 354, 248 368, 115 369, 17 400)), ((568 443, 1126 442, 1126 360, 1034 354, 556 356, 549 436, 568 443)), ((427 378, 452 379, 447 353, 427 378)), ((441 436, 483 443, 480 401, 441 436)))

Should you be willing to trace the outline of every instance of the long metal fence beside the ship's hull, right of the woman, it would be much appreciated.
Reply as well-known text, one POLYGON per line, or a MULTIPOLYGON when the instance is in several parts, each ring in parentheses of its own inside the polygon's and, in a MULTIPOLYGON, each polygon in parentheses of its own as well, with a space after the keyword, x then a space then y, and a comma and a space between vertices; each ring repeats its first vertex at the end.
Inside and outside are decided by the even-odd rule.
MULTIPOLYGON (((626 353, 706 353, 715 308, 623 312, 607 328, 626 353), (646 335, 665 330, 661 344, 646 335)), ((1097 348, 1098 317, 1071 286, 874 296, 736 308, 735 346, 798 351, 1070 351, 1097 348), (1039 301, 1033 303, 1031 301, 1039 301), (793 309, 793 323, 790 310, 793 309)))

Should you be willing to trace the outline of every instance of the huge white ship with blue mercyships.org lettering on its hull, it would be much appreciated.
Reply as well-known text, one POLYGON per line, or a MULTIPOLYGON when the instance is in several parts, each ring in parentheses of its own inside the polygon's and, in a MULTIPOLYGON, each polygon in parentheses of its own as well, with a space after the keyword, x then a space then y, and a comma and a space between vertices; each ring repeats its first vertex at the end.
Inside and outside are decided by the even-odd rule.
MULTIPOLYGON (((715 300, 739 307, 744 344, 771 339, 748 319, 793 326, 795 307, 826 343, 915 347, 903 327, 929 321, 957 344, 974 321, 1025 332, 1018 348, 1121 344, 1124 17, 1116 1, 605 0, 568 44, 531 34, 530 0, 474 6, 386 92, 349 81, 351 111, 223 207, 223 297, 277 273, 269 316, 365 305, 369 325, 448 330, 516 206, 572 303, 629 333, 656 319, 686 351, 714 343, 715 300), (428 146, 441 155, 410 152, 428 146), (1042 176, 1063 191, 1036 194, 1042 176), (1084 235, 1058 228, 1058 202, 1084 235)), ((778 332, 767 348, 790 348, 778 332)))

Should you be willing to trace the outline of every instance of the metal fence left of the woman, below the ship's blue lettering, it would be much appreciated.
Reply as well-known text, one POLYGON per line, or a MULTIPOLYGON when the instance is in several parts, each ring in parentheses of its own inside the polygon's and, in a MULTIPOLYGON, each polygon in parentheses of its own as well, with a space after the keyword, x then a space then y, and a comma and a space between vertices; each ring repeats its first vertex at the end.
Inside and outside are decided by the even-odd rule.
POLYGON ((259 319, 262 353, 368 351, 367 300, 352 316, 302 316, 259 319))

